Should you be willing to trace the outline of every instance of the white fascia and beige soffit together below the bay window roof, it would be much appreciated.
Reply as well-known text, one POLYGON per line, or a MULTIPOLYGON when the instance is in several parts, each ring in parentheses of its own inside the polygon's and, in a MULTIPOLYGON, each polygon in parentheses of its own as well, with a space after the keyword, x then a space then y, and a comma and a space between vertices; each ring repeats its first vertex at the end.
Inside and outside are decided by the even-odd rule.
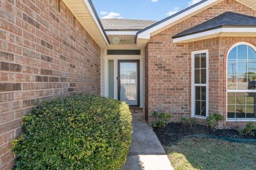
POLYGON ((190 43, 193 41, 215 37, 256 37, 256 28, 218 28, 210 31, 195 33, 193 35, 174 38, 173 43, 190 43))

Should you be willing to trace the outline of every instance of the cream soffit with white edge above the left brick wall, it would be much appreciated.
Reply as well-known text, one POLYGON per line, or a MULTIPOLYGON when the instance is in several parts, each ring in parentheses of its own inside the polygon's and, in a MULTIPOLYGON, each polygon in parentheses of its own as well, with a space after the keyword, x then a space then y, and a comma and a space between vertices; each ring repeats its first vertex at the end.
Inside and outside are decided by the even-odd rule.
POLYGON ((90 0, 62 1, 100 47, 106 48, 109 46, 108 39, 97 19, 97 14, 94 13, 90 0))

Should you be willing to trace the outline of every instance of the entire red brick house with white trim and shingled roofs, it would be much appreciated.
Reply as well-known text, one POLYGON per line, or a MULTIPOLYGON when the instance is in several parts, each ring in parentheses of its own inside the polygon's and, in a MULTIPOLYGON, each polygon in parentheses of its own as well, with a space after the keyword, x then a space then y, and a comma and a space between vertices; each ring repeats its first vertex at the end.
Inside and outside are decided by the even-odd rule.
POLYGON ((0 169, 21 117, 93 94, 219 128, 256 122, 256 1, 203 0, 162 21, 100 20, 90 0, 0 1, 0 169), (255 75, 254 75, 255 74, 255 75))

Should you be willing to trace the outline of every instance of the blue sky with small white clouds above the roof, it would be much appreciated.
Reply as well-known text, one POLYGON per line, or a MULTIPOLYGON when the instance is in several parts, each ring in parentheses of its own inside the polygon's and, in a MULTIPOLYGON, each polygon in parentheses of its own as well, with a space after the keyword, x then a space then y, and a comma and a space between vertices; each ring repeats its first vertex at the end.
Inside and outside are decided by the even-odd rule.
POLYGON ((100 18, 159 21, 201 0, 92 0, 100 18))

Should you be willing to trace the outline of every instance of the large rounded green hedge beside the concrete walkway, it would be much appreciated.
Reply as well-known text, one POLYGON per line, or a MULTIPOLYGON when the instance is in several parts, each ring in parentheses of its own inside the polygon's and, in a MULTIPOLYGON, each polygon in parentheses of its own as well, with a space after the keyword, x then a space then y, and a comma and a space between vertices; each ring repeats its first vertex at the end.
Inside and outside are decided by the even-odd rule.
POLYGON ((132 135, 125 103, 78 95, 47 101, 23 117, 14 169, 121 169, 132 135))

